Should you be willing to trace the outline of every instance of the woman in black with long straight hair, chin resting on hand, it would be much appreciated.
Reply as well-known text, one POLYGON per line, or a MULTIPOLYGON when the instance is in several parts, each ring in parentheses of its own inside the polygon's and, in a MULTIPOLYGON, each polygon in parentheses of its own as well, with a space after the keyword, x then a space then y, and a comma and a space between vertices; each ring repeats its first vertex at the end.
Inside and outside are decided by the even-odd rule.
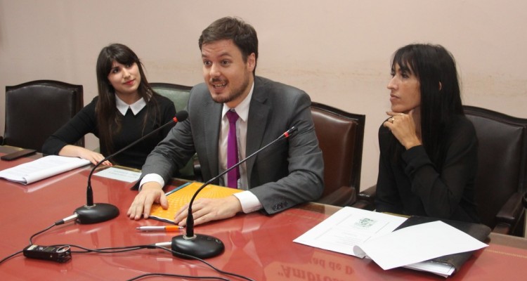
POLYGON ((477 138, 453 55, 410 44, 393 55, 391 111, 379 129, 377 211, 477 222, 477 138))

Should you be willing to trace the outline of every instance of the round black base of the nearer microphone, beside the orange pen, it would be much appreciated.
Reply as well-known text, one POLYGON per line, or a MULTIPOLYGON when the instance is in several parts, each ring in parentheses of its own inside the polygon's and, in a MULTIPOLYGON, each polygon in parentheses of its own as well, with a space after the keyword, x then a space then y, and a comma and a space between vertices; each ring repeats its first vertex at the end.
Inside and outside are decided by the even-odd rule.
POLYGON ((183 259, 191 259, 190 256, 207 259, 223 253, 225 245, 216 237, 196 234, 190 238, 185 235, 178 235, 172 238, 171 248, 176 251, 176 253, 172 253, 174 256, 179 256, 183 259))

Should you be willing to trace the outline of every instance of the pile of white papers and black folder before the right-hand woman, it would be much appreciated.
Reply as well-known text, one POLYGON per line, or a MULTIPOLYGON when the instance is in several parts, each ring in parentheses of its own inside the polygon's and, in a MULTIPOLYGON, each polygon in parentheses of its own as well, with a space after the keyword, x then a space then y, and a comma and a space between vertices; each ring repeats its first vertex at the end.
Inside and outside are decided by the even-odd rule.
MULTIPOLYGON (((471 255, 486 247, 490 228, 475 223, 453 222, 460 229, 476 234, 476 239, 442 221, 423 217, 403 218, 344 207, 308 230, 294 242, 343 254, 369 257, 384 270, 412 268, 452 275, 471 255), (412 221, 412 222, 410 222, 412 221), (413 225, 413 222, 420 224, 413 225), (403 223, 408 226, 396 230, 403 223), (396 231, 393 231, 396 230, 396 231), (445 259, 441 259, 446 257, 445 259)), ((401 226, 403 227, 403 226, 401 226)))

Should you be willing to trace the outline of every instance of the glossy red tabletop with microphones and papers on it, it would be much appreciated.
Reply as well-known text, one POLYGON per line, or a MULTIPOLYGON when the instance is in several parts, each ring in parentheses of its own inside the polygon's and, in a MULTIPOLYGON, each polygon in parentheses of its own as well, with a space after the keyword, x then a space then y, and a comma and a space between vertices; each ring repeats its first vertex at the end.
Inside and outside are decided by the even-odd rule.
MULTIPOLYGON (((1 154, 1 153, 0 153, 1 154)), ((0 169, 30 159, 0 161, 0 169)), ((70 216, 86 203, 86 180, 91 166, 75 169, 30 185, 0 180, 0 259, 20 251, 30 236, 70 216)), ((177 183, 176 183, 177 184, 177 183)), ((125 247, 169 242, 183 233, 145 233, 137 226, 165 226, 161 221, 133 221, 126 210, 136 195, 133 183, 93 176, 95 202, 119 208, 117 218, 104 223, 66 223, 34 238, 34 244, 75 244, 87 248, 125 247)), ((375 262, 292 242, 337 211, 338 207, 303 204, 273 216, 259 212, 197 226, 195 233, 213 235, 226 251, 207 262, 221 270, 253 280, 442 280, 431 273, 405 268, 382 270, 375 262)), ((448 280, 524 280, 527 277, 527 240, 490 235, 490 246, 476 251, 448 280)), ((73 250, 78 250, 72 248, 73 250)), ((1 280, 128 280, 144 273, 221 276, 199 261, 180 259, 160 249, 119 254, 72 254, 67 263, 27 259, 22 254, 0 264, 1 280)), ((167 277, 145 280, 169 280, 167 277)), ((176 279, 177 280, 177 279, 176 279)))

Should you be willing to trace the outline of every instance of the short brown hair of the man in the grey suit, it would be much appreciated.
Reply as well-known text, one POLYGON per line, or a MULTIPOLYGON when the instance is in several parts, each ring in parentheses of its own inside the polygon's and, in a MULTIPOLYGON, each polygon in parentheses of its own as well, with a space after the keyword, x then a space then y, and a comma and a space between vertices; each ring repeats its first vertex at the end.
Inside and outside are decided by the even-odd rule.
POLYGON ((224 39, 233 40, 234 44, 242 52, 244 63, 247 63, 247 57, 254 53, 255 64, 252 74, 255 75, 256 62, 258 61, 258 36, 254 27, 240 18, 220 18, 202 31, 198 45, 201 50, 203 44, 224 39))

